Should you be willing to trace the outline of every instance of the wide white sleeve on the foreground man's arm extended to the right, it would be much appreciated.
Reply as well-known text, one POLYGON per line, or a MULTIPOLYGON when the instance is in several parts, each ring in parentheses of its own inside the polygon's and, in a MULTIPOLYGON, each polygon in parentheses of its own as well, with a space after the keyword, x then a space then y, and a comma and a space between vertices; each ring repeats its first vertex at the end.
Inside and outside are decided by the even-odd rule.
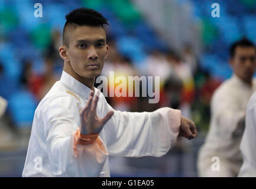
POLYGON ((169 107, 140 113, 114 110, 104 127, 108 152, 123 157, 161 157, 176 142, 180 119, 180 110, 169 107))

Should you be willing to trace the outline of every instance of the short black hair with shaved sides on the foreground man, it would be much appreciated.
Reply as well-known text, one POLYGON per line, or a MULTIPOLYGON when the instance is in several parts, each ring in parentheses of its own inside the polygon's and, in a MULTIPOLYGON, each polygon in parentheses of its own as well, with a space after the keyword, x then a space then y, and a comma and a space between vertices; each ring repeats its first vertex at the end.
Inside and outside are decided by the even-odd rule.
POLYGON ((66 28, 69 25, 89 25, 89 26, 102 26, 108 25, 108 19, 93 9, 77 8, 66 15, 66 23, 63 28, 63 45, 68 47, 69 40, 65 35, 66 28))

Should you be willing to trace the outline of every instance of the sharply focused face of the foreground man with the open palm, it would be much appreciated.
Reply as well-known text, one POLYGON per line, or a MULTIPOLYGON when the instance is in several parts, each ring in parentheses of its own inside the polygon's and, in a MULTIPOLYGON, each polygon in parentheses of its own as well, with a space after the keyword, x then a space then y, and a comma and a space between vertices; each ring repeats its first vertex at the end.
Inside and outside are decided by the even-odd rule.
POLYGON ((80 77, 99 76, 107 53, 106 34, 101 26, 79 26, 69 34, 69 64, 80 77))

